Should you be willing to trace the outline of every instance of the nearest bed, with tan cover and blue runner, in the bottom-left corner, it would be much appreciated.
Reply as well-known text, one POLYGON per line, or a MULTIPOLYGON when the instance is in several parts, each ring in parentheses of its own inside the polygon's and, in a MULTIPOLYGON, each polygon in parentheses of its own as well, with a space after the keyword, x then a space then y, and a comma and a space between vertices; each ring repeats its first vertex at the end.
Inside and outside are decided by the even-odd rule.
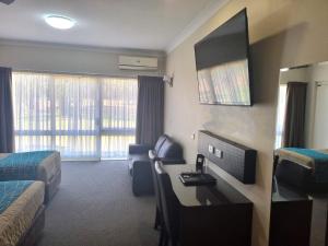
POLYGON ((0 183, 0 245, 32 246, 42 233, 45 185, 43 181, 0 183))

